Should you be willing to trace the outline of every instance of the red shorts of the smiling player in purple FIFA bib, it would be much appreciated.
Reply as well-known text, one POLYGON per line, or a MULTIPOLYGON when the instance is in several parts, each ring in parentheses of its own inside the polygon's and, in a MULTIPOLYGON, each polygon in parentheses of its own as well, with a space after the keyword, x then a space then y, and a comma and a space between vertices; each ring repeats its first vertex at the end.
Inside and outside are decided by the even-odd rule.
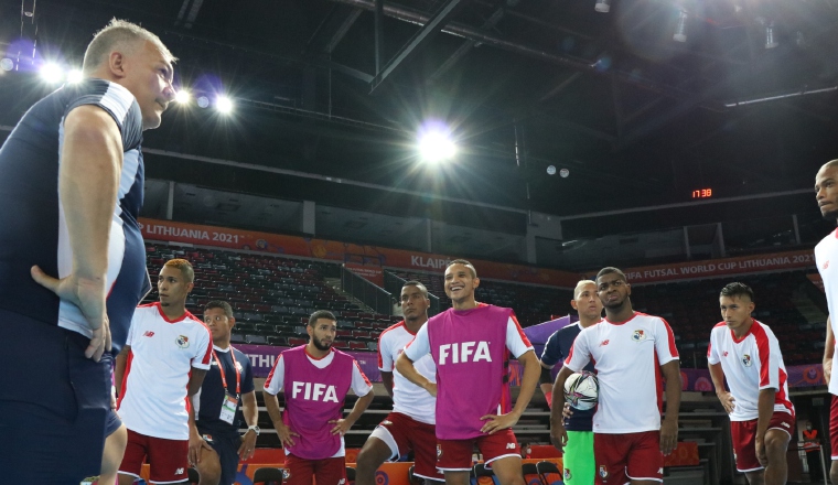
POLYGON ((511 429, 471 440, 437 440, 437 467, 449 472, 472 470, 474 444, 483 455, 483 463, 516 456, 520 459, 520 445, 511 429))

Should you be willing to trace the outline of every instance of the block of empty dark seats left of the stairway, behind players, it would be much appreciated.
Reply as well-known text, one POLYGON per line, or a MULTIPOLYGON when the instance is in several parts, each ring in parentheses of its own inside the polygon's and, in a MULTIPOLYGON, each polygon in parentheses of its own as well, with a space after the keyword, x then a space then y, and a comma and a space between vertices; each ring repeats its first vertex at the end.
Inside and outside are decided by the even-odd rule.
POLYGON ((195 268, 195 288, 186 309, 201 315, 211 300, 229 302, 237 322, 233 335, 236 343, 304 344, 309 315, 330 310, 339 319, 337 348, 375 351, 380 332, 400 320, 365 312, 326 284, 325 277, 340 274, 336 263, 160 244, 147 245, 146 249, 152 291, 144 302, 157 301, 154 277, 165 261, 184 258, 195 268))

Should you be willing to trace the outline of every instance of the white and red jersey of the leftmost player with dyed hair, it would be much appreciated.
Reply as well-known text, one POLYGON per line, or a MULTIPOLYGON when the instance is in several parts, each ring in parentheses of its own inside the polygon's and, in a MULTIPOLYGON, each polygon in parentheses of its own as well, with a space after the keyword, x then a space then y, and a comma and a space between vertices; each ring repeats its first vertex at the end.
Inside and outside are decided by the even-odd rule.
POLYGON ((169 320, 160 303, 133 312, 131 346, 117 410, 126 428, 147 436, 189 440, 186 387, 192 368, 208 369, 213 338, 192 313, 169 320))

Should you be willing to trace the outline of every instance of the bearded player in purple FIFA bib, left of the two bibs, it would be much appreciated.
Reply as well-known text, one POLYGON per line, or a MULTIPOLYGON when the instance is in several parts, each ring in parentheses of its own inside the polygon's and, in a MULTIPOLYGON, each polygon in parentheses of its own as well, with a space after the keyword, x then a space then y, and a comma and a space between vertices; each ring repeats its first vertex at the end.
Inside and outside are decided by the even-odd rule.
POLYGON ((309 343, 279 355, 265 381, 265 407, 286 449, 287 485, 339 485, 346 481, 343 435, 373 401, 373 386, 348 354, 332 348, 337 321, 319 310, 305 326, 309 343), (346 394, 358 399, 342 417, 346 394), (277 394, 283 390, 286 410, 277 394))

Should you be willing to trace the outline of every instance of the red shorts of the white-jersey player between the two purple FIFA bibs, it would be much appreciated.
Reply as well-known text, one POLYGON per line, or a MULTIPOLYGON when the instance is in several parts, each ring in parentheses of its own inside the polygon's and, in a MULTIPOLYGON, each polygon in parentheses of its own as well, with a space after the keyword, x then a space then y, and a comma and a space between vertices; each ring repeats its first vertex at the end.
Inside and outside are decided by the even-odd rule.
POLYGON ((444 481, 445 476, 437 471, 436 429, 433 424, 417 421, 407 414, 390 412, 372 435, 387 443, 394 459, 412 450, 416 457, 413 475, 444 481))

